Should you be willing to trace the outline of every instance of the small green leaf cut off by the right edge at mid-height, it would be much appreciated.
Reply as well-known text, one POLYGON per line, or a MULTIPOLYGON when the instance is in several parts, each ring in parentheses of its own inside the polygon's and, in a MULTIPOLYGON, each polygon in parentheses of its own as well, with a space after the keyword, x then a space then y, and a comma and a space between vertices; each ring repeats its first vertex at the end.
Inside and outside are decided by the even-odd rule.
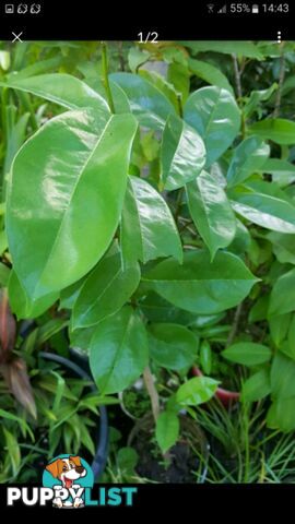
POLYGON ((270 315, 290 311, 295 311, 295 269, 279 276, 270 296, 270 315))

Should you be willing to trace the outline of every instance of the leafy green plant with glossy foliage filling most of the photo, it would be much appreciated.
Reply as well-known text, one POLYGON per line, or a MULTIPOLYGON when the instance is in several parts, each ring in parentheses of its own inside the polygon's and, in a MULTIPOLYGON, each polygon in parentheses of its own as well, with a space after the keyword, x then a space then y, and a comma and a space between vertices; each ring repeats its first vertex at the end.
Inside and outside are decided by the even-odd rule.
POLYGON ((54 108, 39 127, 26 104, 8 164, 12 310, 58 302, 102 395, 143 376, 163 453, 221 380, 270 394, 268 425, 293 430, 294 44, 128 46, 132 72, 109 74, 102 44, 98 69, 1 79, 54 108), (161 391, 163 370, 180 383, 161 391))

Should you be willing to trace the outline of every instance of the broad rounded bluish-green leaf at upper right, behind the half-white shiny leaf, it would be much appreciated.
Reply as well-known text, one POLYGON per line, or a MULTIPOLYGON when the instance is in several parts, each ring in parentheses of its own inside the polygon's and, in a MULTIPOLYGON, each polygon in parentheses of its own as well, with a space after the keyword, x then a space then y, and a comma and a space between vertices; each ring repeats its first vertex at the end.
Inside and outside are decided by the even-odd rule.
POLYGON ((202 136, 210 166, 238 133, 240 114, 235 98, 221 87, 202 87, 189 96, 184 114, 185 120, 202 136))

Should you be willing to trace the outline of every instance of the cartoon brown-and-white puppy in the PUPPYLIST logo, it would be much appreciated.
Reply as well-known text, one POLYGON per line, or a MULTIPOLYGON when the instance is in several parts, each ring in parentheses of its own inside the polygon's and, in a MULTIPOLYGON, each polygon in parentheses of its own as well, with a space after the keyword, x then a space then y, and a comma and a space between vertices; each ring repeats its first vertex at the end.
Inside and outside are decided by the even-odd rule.
MULTIPOLYGON (((46 466, 47 472, 49 472, 52 477, 59 479, 62 484, 62 488, 80 488, 80 485, 75 481, 81 478, 85 477, 87 474, 85 467, 81 463, 80 456, 69 456, 69 458, 57 458, 56 461, 51 462, 46 466)), ((56 486, 56 488, 61 488, 60 486, 56 486)), ((84 505, 83 499, 80 497, 74 498, 74 502, 66 501, 62 503, 60 497, 56 497, 54 499, 54 505, 58 508, 62 507, 74 507, 79 508, 84 505)))

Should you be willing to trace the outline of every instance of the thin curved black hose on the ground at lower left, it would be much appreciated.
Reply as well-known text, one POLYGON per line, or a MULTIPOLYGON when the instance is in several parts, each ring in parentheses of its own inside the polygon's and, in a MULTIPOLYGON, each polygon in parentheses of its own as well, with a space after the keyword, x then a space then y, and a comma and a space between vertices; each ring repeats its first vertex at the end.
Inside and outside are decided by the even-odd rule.
MULTIPOLYGON (((92 382, 90 384, 91 391, 93 392, 97 391, 88 373, 84 371, 80 366, 69 360, 68 358, 61 357, 60 355, 56 355, 54 353, 47 353, 47 352, 39 352, 38 355, 42 358, 45 358, 46 360, 51 360, 54 362, 61 364, 66 368, 73 371, 81 379, 92 382)), ((107 410, 105 406, 99 406, 99 414, 101 414, 101 424, 99 424, 99 429, 97 433, 97 446, 96 446, 95 456, 91 465, 95 480, 97 480, 98 477, 101 477, 101 475, 104 473, 106 462, 107 462, 107 454, 108 454, 108 419, 107 419, 107 410)))

